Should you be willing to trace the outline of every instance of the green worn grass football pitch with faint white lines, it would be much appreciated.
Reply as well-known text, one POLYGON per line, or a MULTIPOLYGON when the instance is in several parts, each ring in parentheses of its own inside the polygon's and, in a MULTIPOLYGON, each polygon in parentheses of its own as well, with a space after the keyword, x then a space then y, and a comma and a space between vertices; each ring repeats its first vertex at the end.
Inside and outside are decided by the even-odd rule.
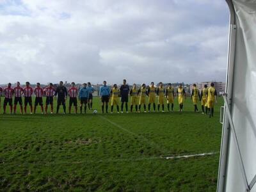
POLYGON ((0 190, 216 191, 219 153, 163 157, 218 152, 222 104, 214 118, 190 99, 182 114, 177 100, 174 113, 1 114, 0 190))

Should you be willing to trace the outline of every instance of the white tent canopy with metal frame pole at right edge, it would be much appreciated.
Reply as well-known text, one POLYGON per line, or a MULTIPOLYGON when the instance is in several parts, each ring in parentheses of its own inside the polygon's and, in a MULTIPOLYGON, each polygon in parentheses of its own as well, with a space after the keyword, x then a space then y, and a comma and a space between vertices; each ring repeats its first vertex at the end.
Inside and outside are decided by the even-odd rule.
POLYGON ((256 191, 256 0, 226 1, 230 40, 217 191, 256 191))

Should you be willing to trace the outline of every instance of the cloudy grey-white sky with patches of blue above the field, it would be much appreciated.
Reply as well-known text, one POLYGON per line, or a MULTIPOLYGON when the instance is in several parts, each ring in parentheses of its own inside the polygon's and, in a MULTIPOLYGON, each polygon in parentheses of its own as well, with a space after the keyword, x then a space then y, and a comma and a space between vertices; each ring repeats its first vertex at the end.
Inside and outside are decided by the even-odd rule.
POLYGON ((0 0, 0 83, 224 81, 223 0, 0 0))

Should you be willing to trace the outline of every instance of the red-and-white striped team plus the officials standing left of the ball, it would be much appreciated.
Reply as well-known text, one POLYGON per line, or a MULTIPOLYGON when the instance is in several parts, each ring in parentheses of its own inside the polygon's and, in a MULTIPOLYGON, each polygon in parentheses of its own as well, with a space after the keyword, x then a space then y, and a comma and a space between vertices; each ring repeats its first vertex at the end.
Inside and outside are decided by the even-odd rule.
MULTIPOLYGON (((86 104, 88 104, 88 108, 92 109, 92 93, 93 87, 91 83, 88 83, 88 87, 86 83, 84 83, 83 88, 79 91, 76 88, 75 83, 72 83, 71 88, 67 90, 65 86, 63 86, 63 81, 60 81, 59 86, 55 89, 53 84, 50 83, 49 86, 42 88, 40 83, 36 83, 36 88, 30 86, 29 82, 26 82, 26 86, 22 88, 20 83, 17 82, 17 86, 12 88, 12 84, 8 83, 6 88, 0 87, 0 95, 4 93, 4 102, 3 102, 3 110, 6 113, 6 106, 10 106, 10 113, 16 113, 17 104, 20 106, 20 113, 23 114, 23 100, 24 97, 24 113, 27 113, 27 106, 30 107, 30 113, 36 113, 36 107, 39 105, 41 107, 42 114, 47 113, 48 106, 51 106, 51 113, 53 113, 53 98, 58 97, 57 99, 57 109, 56 113, 59 113, 60 105, 63 106, 63 111, 66 113, 66 99, 67 96, 70 97, 69 100, 69 107, 68 112, 71 111, 71 106, 75 106, 75 111, 77 113, 77 96, 79 95, 79 100, 81 101, 81 113, 82 113, 82 106, 84 104, 84 112, 86 112, 86 104), (33 109, 32 104, 32 95, 35 94, 35 104, 33 109), (14 106, 13 106, 13 95, 14 95, 14 106), (46 97, 45 99, 45 108, 43 106, 43 96, 46 97), (86 99, 84 99, 86 98, 86 99)), ((1 97, 0 97, 1 99, 1 97)), ((0 100, 1 104, 1 100, 0 100)))

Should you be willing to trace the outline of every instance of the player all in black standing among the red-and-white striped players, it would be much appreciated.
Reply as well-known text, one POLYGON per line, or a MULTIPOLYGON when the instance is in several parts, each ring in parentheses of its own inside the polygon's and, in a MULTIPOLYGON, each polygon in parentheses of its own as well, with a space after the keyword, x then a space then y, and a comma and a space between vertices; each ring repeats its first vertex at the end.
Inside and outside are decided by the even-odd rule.
POLYGON ((56 92, 54 94, 54 96, 58 97, 57 100, 57 111, 56 113, 59 113, 59 109, 60 109, 60 105, 63 105, 63 111, 64 114, 66 113, 66 99, 67 99, 67 88, 65 86, 63 86, 63 81, 60 81, 60 85, 57 87, 56 92))

